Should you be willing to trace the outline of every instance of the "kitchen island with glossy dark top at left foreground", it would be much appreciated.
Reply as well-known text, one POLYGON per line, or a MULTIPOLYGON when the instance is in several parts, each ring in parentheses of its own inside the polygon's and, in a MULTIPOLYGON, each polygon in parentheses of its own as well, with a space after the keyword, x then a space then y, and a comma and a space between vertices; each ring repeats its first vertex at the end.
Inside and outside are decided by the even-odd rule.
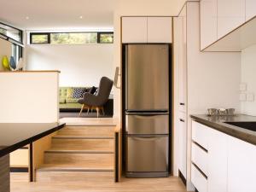
POLYGON ((9 192, 9 153, 60 130, 63 123, 0 124, 0 192, 9 192))

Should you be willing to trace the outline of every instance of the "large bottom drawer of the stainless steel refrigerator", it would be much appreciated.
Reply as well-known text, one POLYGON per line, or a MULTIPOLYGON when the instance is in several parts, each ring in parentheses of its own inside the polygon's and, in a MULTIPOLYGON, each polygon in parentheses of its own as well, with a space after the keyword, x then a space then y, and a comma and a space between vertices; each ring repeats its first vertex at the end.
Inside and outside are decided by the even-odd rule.
POLYGON ((147 173, 168 175, 168 135, 163 136, 127 136, 126 175, 147 173))

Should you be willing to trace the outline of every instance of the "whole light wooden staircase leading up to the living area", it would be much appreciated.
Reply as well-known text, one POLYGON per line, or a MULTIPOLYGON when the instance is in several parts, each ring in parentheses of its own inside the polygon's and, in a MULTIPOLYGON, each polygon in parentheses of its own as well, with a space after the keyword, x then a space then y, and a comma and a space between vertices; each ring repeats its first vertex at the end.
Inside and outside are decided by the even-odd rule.
POLYGON ((115 125, 67 125, 52 137, 38 182, 111 180, 114 171, 115 125))

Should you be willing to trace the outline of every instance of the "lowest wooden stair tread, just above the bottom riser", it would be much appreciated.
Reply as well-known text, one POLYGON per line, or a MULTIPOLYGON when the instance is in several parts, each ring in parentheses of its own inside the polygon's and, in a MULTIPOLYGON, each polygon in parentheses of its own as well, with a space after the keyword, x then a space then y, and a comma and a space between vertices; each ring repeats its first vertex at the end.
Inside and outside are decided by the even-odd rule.
POLYGON ((113 166, 84 165, 84 164, 44 164, 37 169, 38 172, 84 171, 84 172, 113 172, 113 166))

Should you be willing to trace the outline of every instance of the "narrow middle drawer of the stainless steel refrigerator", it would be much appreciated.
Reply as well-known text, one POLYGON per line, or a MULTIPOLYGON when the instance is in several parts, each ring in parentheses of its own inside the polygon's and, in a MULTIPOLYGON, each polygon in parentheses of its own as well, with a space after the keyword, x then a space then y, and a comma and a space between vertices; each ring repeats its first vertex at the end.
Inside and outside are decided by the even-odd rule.
POLYGON ((168 134, 168 113, 130 113, 125 119, 126 134, 168 134))

